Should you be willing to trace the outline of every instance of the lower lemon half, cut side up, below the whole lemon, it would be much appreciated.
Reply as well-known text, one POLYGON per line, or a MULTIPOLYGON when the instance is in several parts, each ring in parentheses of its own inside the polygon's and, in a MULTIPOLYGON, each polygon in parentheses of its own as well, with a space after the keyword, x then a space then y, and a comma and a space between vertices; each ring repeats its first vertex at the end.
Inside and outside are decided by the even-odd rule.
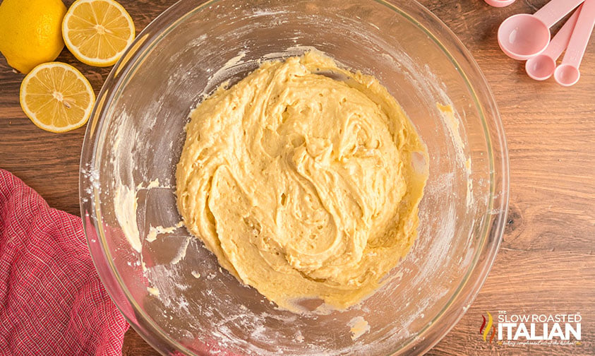
POLYGON ((95 93, 76 68, 60 62, 36 66, 20 84, 20 107, 41 129, 66 132, 89 119, 95 93))

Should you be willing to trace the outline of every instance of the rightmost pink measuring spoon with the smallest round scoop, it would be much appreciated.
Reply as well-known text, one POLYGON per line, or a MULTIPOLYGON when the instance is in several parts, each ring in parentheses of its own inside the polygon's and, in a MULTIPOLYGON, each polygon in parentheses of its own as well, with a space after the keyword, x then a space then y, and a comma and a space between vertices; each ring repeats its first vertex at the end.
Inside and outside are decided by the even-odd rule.
POLYGON ((579 66, 595 25, 595 0, 586 0, 577 19, 575 30, 564 54, 562 64, 553 72, 553 78, 560 85, 575 85, 580 78, 579 66))

